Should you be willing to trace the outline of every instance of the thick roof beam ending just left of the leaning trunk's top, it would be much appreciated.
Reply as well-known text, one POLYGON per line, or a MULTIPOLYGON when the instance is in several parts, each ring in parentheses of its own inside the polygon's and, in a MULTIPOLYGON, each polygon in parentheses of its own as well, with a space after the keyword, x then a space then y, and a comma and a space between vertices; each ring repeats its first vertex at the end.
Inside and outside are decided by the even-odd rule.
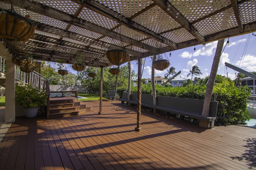
POLYGON ((200 33, 168 0, 153 0, 162 10, 176 20, 190 34, 192 34, 200 43, 205 44, 205 39, 200 33))

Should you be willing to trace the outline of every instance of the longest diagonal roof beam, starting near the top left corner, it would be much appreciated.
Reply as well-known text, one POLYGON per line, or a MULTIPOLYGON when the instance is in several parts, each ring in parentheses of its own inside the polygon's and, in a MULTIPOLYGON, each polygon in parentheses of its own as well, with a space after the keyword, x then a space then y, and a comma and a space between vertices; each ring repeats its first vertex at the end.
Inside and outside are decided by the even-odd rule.
MULTIPOLYGON (((6 3, 6 4, 10 4, 9 0, 2 0, 2 2, 6 3)), ((56 20, 60 20, 60 21, 66 22, 68 24, 76 25, 78 27, 88 29, 90 31, 94 31, 101 35, 111 37, 113 39, 117 39, 119 41, 122 41, 122 42, 125 42, 128 44, 132 43, 132 45, 134 45, 134 46, 140 47, 142 49, 146 49, 148 51, 154 51, 157 53, 157 48, 155 48, 155 47, 152 47, 145 43, 141 43, 139 41, 136 41, 136 40, 131 39, 130 37, 126 37, 124 35, 117 36, 117 33, 114 31, 110 31, 109 29, 106 29, 106 28, 96 25, 94 23, 88 22, 86 20, 82 20, 80 18, 74 18, 72 15, 66 14, 65 12, 56 10, 49 6, 45 6, 43 4, 40 4, 40 3, 37 3, 34 1, 22 1, 22 4, 21 4, 19 0, 13 0, 12 4, 14 6, 18 6, 19 8, 23 8, 23 9, 25 8, 26 10, 30 10, 32 12, 36 12, 38 14, 42 14, 42 15, 48 16, 50 18, 54 18, 56 20)))

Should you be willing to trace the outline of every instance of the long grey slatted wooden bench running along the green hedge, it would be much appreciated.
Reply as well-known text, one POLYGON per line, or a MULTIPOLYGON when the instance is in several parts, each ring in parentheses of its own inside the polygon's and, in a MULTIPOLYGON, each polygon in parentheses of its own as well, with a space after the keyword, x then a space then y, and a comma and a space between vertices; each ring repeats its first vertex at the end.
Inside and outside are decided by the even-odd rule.
MULTIPOLYGON (((122 103, 127 102, 137 104, 137 94, 131 93, 130 100, 128 100, 128 93, 124 92, 123 97, 119 98, 118 100, 122 101, 122 103)), ((216 119, 218 109, 218 102, 211 101, 209 116, 204 116, 202 115, 204 100, 156 96, 156 105, 153 105, 153 96, 147 94, 141 95, 141 105, 170 113, 192 117, 198 119, 199 121, 207 120, 210 123, 210 128, 214 127, 214 121, 216 119)))

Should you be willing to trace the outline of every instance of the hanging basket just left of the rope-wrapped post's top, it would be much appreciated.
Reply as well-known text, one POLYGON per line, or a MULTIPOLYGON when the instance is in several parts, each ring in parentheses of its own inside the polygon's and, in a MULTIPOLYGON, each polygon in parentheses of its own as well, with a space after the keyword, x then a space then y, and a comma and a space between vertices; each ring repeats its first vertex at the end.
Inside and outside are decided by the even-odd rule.
POLYGON ((129 53, 119 49, 108 50, 106 52, 106 57, 110 63, 118 66, 130 60, 129 53))

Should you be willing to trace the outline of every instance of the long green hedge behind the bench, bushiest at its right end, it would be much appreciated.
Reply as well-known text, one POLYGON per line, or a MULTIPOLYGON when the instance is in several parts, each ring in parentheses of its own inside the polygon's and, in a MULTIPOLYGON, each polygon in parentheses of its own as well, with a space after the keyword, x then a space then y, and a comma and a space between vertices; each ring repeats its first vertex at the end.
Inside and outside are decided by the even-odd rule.
MULTIPOLYGON (((142 84, 142 94, 152 94, 152 85, 142 84)), ((132 87, 131 92, 137 92, 137 87, 132 87)), ((190 84, 186 87, 162 87, 156 84, 156 95, 171 96, 178 98, 191 98, 204 100, 206 85, 190 84)), ((214 94, 218 94, 218 111, 216 125, 236 125, 245 124, 250 119, 247 111, 247 98, 250 92, 247 87, 237 88, 229 80, 222 80, 221 83, 215 83, 214 94)))

